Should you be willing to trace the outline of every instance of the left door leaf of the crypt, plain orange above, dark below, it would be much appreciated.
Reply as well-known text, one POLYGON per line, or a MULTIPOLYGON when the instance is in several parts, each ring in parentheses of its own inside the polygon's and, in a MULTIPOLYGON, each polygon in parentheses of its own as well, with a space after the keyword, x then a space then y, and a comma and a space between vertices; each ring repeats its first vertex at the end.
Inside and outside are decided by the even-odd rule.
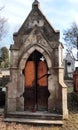
POLYGON ((35 102, 34 96, 34 81, 35 81, 35 64, 33 61, 28 61, 25 67, 25 90, 24 90, 24 109, 32 110, 35 102))

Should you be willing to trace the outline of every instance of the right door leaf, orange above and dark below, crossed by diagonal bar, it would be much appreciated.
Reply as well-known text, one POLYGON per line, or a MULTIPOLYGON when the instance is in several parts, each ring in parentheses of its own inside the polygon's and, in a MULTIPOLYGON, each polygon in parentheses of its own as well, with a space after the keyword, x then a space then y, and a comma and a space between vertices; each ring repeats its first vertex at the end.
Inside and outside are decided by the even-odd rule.
POLYGON ((37 80, 37 102, 38 110, 47 110, 48 105, 48 81, 46 62, 38 63, 38 80, 37 80))

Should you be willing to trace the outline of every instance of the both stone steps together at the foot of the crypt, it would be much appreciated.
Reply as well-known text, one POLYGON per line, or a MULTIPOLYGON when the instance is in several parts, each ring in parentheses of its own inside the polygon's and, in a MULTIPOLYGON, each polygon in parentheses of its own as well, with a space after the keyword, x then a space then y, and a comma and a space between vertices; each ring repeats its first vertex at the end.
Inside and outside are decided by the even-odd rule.
POLYGON ((4 118, 5 122, 33 123, 33 124, 63 124, 61 114, 44 112, 9 112, 4 118))

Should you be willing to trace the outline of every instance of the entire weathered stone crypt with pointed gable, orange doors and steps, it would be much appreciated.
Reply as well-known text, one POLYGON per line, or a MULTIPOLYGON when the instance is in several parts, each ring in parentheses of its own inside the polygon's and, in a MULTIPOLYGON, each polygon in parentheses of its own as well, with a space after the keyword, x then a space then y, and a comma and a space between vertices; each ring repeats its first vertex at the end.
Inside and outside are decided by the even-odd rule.
POLYGON ((35 0, 10 47, 5 121, 62 124, 68 118, 60 32, 47 21, 35 0), (20 120, 19 120, 20 117, 20 120))

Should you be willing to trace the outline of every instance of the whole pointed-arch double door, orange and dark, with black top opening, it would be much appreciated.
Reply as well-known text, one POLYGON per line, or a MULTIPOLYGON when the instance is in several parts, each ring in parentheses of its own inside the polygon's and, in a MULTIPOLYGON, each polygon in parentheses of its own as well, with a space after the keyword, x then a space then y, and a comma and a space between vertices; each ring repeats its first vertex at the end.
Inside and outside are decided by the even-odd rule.
POLYGON ((34 51, 25 65, 24 110, 46 111, 48 109, 47 63, 38 51, 34 51))

